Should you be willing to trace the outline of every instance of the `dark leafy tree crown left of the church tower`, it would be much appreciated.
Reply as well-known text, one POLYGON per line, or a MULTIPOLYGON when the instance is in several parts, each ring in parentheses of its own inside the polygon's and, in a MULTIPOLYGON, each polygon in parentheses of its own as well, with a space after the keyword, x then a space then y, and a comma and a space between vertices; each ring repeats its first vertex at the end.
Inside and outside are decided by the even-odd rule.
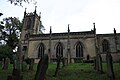
POLYGON ((20 37, 20 31, 22 30, 22 22, 16 17, 8 17, 3 19, 4 24, 0 25, 1 40, 15 49, 20 37))

